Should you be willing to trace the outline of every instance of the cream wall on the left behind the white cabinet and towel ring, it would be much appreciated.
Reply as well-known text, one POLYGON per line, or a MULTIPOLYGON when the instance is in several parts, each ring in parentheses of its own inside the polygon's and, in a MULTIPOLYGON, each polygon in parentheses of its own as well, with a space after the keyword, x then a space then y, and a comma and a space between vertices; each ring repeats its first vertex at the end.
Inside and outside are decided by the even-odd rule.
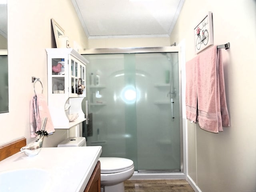
MULTIPOLYGON (((9 113, 0 114, 0 145, 30 138, 29 106, 34 95, 31 77, 40 78, 47 97, 47 55, 45 48, 54 48, 51 18, 54 18, 70 44, 87 46, 87 38, 70 0, 8 1, 9 113)), ((39 88, 40 91, 40 88, 39 88)), ((44 146, 56 146, 67 131, 56 130, 44 146)))

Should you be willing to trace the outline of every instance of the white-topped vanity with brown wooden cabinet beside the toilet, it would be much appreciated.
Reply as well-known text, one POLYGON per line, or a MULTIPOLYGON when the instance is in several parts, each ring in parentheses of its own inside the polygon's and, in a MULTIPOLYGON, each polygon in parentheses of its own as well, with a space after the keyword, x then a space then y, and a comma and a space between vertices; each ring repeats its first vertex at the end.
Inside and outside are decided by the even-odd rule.
MULTIPOLYGON (((0 161, 0 177, 13 172, 8 191, 18 187, 20 192, 100 192, 101 153, 101 146, 42 148, 30 157, 18 152, 0 161)), ((0 181, 0 191, 2 185, 8 185, 3 178, 8 174, 0 181)))

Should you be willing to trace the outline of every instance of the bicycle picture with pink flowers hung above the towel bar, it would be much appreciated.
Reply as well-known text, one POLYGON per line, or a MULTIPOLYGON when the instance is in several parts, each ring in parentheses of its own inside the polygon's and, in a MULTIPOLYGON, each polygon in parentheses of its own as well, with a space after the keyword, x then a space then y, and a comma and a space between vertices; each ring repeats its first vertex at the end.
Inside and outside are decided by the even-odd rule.
POLYGON ((213 45, 212 12, 208 12, 194 28, 196 54, 213 45))

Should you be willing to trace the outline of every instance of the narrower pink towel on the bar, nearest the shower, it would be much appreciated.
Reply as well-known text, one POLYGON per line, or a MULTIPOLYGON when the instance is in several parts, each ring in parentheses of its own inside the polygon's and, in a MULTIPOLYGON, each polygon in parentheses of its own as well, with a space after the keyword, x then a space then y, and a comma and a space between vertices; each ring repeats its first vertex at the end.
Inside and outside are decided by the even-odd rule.
POLYGON ((198 57, 186 62, 186 117, 197 122, 196 66, 198 57))

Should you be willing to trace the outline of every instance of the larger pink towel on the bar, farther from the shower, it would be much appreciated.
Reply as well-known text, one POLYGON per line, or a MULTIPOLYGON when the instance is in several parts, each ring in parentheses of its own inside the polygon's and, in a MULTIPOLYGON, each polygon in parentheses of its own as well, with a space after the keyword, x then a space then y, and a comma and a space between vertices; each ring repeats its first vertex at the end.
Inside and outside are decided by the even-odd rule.
POLYGON ((198 56, 198 124, 206 131, 218 133, 223 131, 222 118, 223 126, 229 126, 222 53, 217 46, 213 46, 198 56))

